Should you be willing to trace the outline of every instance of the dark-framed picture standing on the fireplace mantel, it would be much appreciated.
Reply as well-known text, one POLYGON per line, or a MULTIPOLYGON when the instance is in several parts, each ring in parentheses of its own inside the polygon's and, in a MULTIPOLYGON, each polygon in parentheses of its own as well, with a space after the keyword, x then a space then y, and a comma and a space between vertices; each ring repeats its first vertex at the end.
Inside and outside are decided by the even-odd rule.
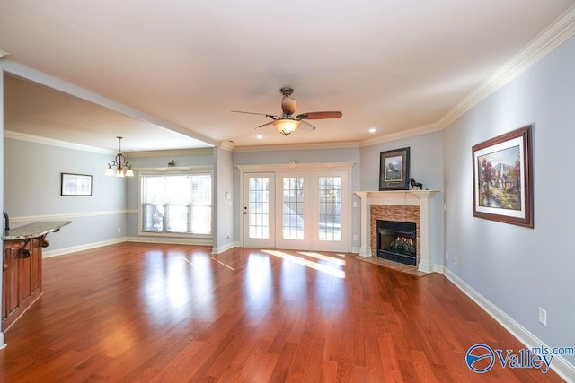
POLYGON ((410 179, 410 148, 379 153, 379 190, 407 190, 410 179))

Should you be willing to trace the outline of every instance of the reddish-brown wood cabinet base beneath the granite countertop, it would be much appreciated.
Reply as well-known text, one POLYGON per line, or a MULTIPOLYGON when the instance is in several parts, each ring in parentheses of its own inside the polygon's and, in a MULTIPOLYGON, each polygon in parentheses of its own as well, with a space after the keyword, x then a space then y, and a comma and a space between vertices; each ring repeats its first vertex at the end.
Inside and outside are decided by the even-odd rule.
POLYGON ((2 328, 8 330, 42 294, 44 237, 4 242, 2 328))

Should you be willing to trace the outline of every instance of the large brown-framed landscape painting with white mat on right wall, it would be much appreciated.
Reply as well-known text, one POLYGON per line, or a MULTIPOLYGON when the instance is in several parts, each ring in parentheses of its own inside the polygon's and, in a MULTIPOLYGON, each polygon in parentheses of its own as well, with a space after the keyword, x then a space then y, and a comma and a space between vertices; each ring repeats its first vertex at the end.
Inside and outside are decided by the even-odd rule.
POLYGON ((473 215, 533 228, 532 126, 472 148, 473 215))

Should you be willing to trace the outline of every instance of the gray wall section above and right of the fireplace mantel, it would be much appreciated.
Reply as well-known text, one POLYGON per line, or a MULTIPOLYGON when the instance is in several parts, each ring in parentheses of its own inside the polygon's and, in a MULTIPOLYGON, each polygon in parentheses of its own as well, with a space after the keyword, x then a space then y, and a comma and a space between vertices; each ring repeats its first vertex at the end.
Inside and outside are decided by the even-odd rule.
POLYGON ((380 152, 410 148, 410 177, 423 184, 423 188, 439 190, 430 203, 435 217, 429 228, 430 259, 433 265, 443 265, 443 134, 442 132, 417 135, 376 144, 361 149, 361 189, 379 189, 380 152))

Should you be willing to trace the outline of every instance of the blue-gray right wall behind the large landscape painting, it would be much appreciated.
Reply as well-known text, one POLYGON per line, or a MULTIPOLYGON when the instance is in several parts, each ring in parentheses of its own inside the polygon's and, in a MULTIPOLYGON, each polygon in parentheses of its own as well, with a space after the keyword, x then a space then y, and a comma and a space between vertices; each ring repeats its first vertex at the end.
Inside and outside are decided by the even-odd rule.
POLYGON ((447 267, 550 346, 575 345, 573 68, 570 39, 444 130, 447 267), (474 218, 472 146, 528 124, 535 125, 535 229, 474 218), (547 326, 538 308, 547 310, 547 326))

